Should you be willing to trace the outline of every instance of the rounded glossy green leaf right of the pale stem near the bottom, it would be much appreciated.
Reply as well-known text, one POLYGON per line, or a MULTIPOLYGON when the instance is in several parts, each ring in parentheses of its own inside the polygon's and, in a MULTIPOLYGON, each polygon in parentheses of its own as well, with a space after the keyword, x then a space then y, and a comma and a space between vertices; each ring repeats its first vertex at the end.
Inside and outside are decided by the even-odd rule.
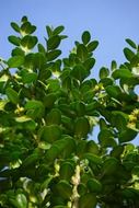
POLYGON ((91 193, 101 193, 102 190, 102 184, 95 178, 89 180, 86 186, 91 193))

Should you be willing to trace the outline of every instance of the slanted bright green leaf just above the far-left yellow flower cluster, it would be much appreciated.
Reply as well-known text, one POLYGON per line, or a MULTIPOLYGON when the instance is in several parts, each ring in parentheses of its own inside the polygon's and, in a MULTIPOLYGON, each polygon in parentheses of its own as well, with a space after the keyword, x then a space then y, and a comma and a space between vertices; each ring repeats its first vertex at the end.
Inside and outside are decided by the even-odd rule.
POLYGON ((19 94, 16 91, 14 91, 12 88, 8 88, 5 90, 5 94, 8 96, 8 99, 13 103, 13 104, 18 104, 19 103, 19 94))

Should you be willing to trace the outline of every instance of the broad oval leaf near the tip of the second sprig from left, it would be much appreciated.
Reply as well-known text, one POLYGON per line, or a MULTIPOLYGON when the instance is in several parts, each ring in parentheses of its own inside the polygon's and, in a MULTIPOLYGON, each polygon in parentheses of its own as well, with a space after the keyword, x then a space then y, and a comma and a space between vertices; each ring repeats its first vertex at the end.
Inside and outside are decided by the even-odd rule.
POLYGON ((49 39, 47 41, 47 49, 48 50, 56 49, 60 45, 60 42, 61 39, 58 35, 49 37, 49 39))

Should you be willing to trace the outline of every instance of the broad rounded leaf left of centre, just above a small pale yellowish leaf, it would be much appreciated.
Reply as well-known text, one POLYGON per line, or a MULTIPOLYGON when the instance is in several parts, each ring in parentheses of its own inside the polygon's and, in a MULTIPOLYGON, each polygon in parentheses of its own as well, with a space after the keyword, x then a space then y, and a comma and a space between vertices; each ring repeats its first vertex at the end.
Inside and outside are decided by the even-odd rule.
POLYGON ((44 126, 40 129, 40 138, 49 143, 60 139, 61 129, 58 125, 44 126))

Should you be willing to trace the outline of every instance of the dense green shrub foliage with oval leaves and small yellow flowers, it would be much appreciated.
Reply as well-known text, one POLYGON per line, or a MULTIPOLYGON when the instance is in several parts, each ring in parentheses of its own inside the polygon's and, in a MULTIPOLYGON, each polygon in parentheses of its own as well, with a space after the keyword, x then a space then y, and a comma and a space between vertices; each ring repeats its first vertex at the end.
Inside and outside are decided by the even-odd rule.
POLYGON ((45 46, 26 16, 11 26, 14 48, 0 60, 1 208, 139 207, 139 46, 126 39, 127 61, 102 67, 97 81, 89 32, 61 59, 63 26, 46 26, 45 46))

